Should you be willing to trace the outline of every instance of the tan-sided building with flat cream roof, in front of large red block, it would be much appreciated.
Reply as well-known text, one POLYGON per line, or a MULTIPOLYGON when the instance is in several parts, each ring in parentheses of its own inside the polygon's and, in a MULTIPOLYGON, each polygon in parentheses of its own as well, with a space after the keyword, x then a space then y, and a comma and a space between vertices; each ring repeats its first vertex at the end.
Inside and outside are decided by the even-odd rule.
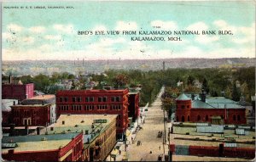
POLYGON ((83 131, 83 161, 104 161, 116 144, 117 115, 60 115, 48 134, 83 131))

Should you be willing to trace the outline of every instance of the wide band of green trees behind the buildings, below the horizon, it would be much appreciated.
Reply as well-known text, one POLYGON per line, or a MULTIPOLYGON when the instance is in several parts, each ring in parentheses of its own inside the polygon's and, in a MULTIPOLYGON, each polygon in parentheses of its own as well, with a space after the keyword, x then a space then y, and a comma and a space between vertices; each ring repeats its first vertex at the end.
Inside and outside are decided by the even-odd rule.
MULTIPOLYGON (((8 76, 2 76, 8 77, 8 76)), ((5 79, 6 79, 5 78, 5 79)), ((22 82, 34 82, 37 90, 45 93, 55 93, 57 87, 53 85, 63 79, 74 79, 69 73, 53 73, 48 75, 24 75, 22 82)), ((141 104, 152 103, 162 85, 166 87, 177 87, 177 82, 183 82, 185 92, 201 92, 201 88, 212 96, 225 96, 238 101, 241 94, 246 101, 251 101, 255 93, 255 68, 230 69, 168 69, 158 71, 141 70, 108 70, 102 75, 91 75, 91 81, 98 81, 96 88, 112 86, 115 88, 137 87, 142 85, 141 104), (237 87, 237 81, 240 87, 237 87), (201 88, 195 87, 195 82, 201 83, 201 88)), ((83 80, 80 80, 84 84, 83 80)), ((76 85, 73 85, 75 87, 76 85)), ((83 88, 83 86, 80 86, 83 88)))

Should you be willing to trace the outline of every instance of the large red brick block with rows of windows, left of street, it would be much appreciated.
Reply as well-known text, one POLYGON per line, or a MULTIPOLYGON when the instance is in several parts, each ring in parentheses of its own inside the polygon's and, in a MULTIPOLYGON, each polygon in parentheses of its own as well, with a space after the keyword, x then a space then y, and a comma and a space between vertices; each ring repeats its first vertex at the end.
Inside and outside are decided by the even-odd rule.
POLYGON ((128 126, 128 89, 76 90, 56 93, 56 114, 118 115, 117 137, 125 134, 128 126))

